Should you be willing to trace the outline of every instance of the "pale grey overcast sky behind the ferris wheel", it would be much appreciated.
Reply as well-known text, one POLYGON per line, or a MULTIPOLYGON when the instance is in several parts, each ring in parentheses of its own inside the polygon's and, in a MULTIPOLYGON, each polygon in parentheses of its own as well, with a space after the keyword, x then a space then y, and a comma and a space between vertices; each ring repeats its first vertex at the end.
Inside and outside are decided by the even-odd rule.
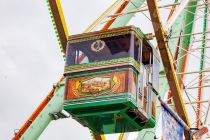
MULTIPOLYGON (((61 0, 69 33, 82 33, 113 1, 61 0)), ((0 140, 7 140, 62 76, 64 61, 45 0, 0 3, 0 140)), ((138 16, 131 23, 152 32, 151 22, 138 16)), ((63 119, 50 123, 40 139, 88 140, 90 133, 76 121, 63 119)))

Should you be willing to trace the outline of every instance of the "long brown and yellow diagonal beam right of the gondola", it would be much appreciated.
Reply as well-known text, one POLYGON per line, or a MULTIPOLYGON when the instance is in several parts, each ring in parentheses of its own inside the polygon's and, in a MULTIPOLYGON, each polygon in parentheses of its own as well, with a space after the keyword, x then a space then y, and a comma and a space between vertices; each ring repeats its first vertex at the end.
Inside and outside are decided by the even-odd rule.
MULTIPOLYGON (((179 82, 176 77, 172 57, 170 55, 169 47, 165 39, 164 29, 161 23, 160 14, 157 7, 156 0, 147 0, 155 36, 157 39, 159 51, 161 54, 164 70, 168 80, 169 87, 172 92, 174 104, 178 115, 182 120, 190 127, 190 122, 187 116, 185 105, 182 99, 181 89, 179 87, 179 82)), ((190 140, 190 133, 186 130, 184 131, 185 139, 190 140)))

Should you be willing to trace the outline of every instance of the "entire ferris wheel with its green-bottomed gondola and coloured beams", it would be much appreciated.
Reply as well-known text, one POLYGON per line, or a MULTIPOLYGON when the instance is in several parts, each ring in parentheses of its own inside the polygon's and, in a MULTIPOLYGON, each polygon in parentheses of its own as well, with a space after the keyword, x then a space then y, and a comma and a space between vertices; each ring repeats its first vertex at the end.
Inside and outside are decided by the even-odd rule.
POLYGON ((47 0, 64 76, 13 140, 38 139, 52 120, 69 117, 95 140, 167 139, 165 110, 182 126, 180 139, 210 138, 209 4, 116 0, 69 35, 60 0, 47 0))

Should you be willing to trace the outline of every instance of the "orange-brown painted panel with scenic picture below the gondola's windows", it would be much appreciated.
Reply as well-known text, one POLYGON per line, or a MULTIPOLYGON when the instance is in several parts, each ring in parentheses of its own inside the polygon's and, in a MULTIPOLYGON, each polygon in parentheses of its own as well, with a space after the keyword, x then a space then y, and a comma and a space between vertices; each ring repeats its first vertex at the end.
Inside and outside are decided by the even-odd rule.
POLYGON ((130 92, 136 96, 136 74, 130 70, 68 78, 65 100, 130 92))

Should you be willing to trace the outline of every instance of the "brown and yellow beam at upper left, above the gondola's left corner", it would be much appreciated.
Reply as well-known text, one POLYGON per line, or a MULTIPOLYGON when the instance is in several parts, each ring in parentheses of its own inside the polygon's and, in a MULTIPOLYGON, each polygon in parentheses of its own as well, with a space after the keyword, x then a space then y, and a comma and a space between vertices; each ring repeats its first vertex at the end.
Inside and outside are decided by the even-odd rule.
POLYGON ((47 0, 47 1, 49 3, 49 8, 52 14, 51 16, 54 19, 53 24, 55 24, 54 26, 56 27, 58 33, 62 52, 65 54, 69 33, 63 15, 63 10, 61 7, 60 0, 47 0))

